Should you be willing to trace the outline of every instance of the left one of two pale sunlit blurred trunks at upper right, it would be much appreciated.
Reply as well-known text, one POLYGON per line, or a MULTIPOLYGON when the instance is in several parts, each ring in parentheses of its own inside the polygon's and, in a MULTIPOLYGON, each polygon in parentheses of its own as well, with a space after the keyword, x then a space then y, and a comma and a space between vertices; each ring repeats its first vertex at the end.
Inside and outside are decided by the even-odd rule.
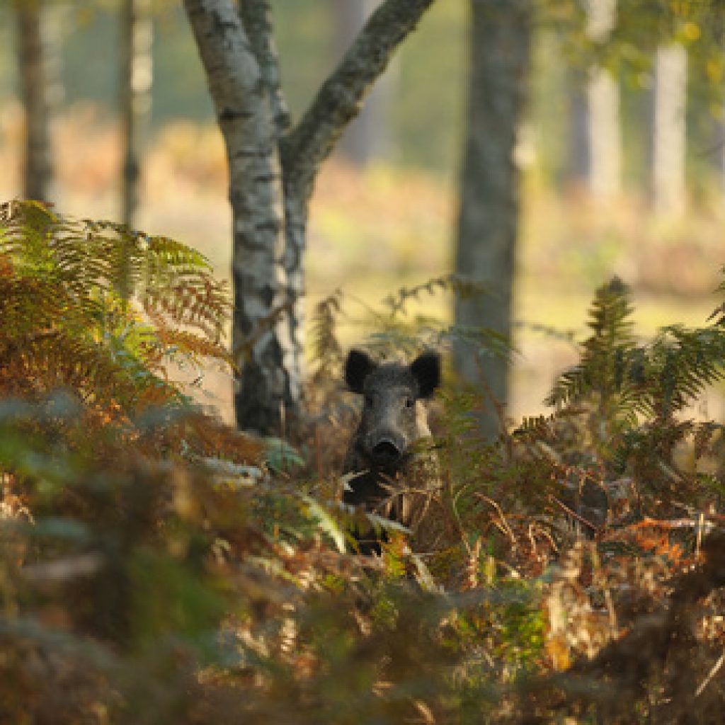
MULTIPOLYGON (((587 37, 605 43, 616 20, 616 0, 588 0, 586 10, 587 37)), ((602 67, 572 76, 571 173, 595 199, 610 199, 621 191, 618 83, 602 67)))

